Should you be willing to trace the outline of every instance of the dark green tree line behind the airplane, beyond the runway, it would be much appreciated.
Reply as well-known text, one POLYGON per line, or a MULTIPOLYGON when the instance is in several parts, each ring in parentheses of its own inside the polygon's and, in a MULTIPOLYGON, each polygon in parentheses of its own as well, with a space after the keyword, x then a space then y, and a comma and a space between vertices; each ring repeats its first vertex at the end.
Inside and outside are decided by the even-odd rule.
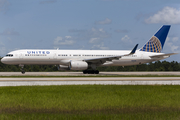
MULTIPOLYGON (((0 58, 1 59, 1 58, 0 58)), ((53 72, 58 71, 55 65, 25 65, 26 72, 53 72)), ((103 66, 97 68, 99 71, 180 71, 180 63, 177 61, 156 61, 148 64, 133 66, 103 66)), ((6 65, 0 62, 0 72, 18 72, 18 65, 6 65)))

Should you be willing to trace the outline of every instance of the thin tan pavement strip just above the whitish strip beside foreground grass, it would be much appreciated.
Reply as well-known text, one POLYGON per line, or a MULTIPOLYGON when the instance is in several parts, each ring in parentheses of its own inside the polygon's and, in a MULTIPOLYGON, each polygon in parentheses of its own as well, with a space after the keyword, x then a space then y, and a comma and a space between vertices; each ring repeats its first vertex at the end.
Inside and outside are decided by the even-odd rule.
POLYGON ((60 77, 60 78, 0 78, 10 81, 180 81, 180 77, 60 77))

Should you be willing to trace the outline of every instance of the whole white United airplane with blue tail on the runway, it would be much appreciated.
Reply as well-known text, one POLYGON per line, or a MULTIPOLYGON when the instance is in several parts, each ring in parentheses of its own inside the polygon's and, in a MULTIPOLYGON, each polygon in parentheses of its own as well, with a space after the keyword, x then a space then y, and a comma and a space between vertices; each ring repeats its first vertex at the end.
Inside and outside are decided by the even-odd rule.
POLYGON ((1 62, 19 65, 56 65, 58 70, 83 70, 84 74, 99 74, 99 66, 129 66, 162 60, 178 53, 161 53, 170 25, 163 25, 147 43, 137 50, 48 50, 23 49, 9 52, 1 62))

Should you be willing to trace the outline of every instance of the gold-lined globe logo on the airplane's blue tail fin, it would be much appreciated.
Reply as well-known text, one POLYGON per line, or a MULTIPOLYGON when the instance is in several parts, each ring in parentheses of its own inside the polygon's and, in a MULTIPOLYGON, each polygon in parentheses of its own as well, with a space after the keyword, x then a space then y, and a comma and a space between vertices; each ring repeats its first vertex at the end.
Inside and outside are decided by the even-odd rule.
POLYGON ((153 36, 145 45, 140 49, 140 51, 146 52, 156 52, 160 53, 162 50, 162 45, 156 36, 153 36))

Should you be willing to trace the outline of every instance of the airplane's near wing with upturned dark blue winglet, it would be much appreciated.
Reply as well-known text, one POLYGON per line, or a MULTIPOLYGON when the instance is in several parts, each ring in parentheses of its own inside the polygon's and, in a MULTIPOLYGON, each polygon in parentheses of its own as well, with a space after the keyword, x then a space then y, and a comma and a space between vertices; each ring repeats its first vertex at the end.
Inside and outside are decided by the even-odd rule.
POLYGON ((92 58, 92 59, 84 59, 84 61, 86 62, 91 62, 91 63, 99 63, 99 64, 103 64, 106 61, 112 61, 112 60, 117 60, 123 56, 129 56, 132 55, 136 52, 136 49, 138 47, 138 44, 136 44, 136 46, 132 49, 132 51, 129 54, 124 54, 124 55, 120 55, 120 56, 111 56, 111 57, 101 57, 101 58, 92 58))

